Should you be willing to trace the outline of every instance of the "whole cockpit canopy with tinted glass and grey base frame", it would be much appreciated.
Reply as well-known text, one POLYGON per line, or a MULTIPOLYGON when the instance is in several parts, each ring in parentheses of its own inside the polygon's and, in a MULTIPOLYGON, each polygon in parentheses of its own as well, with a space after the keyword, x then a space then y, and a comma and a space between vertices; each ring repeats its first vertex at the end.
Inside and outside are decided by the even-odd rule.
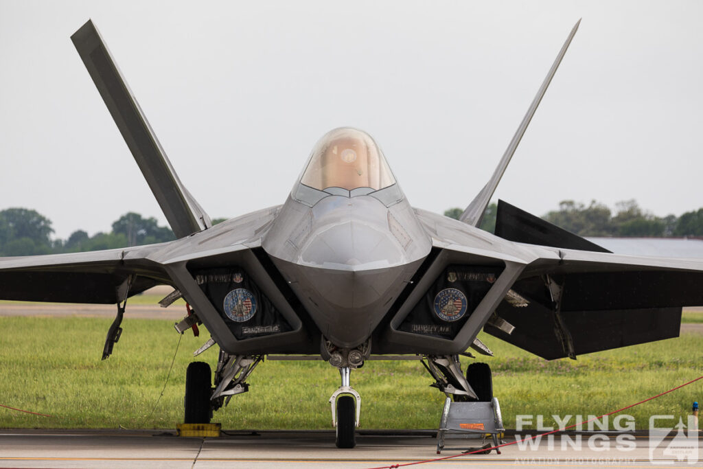
POLYGON ((328 195, 374 195, 385 205, 402 199, 378 145, 366 132, 349 127, 329 131, 318 141, 292 192, 295 200, 310 206, 328 195))

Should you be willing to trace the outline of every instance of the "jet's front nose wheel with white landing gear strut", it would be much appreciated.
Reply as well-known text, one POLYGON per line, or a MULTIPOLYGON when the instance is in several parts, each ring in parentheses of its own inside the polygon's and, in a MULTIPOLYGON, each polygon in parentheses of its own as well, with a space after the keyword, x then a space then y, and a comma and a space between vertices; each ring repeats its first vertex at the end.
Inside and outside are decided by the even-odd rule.
POLYGON ((359 426, 361 396, 349 385, 350 374, 351 370, 348 366, 340 368, 342 385, 330 397, 332 425, 337 429, 335 441, 337 448, 354 448, 356 446, 354 430, 359 426))

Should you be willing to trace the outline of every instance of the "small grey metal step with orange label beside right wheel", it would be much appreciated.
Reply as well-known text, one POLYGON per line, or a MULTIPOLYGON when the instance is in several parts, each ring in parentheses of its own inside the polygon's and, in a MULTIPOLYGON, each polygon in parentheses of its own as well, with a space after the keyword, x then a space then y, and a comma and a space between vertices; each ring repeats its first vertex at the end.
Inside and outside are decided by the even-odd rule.
MULTIPOLYGON (((462 451, 485 449, 483 454, 489 454, 491 452, 489 448, 500 444, 498 438, 499 435, 502 437, 503 432, 505 428, 503 428, 503 416, 501 416, 498 398, 494 397, 490 402, 452 402, 451 398, 447 397, 441 420, 439 420, 439 431, 437 431, 437 454, 441 454, 442 449, 462 451), (479 439, 480 444, 445 448, 445 435, 452 435, 452 440, 475 442, 479 439)), ((501 450, 496 448, 496 453, 501 454, 501 450)))

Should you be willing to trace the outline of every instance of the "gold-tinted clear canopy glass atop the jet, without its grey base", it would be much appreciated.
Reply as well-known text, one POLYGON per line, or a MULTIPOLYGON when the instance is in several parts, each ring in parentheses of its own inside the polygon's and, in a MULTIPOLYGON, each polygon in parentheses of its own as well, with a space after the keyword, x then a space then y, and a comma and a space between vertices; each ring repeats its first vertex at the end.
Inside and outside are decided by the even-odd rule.
POLYGON ((379 191, 396 181, 380 148, 366 132, 341 128, 318 141, 300 182, 318 191, 332 187, 379 191))

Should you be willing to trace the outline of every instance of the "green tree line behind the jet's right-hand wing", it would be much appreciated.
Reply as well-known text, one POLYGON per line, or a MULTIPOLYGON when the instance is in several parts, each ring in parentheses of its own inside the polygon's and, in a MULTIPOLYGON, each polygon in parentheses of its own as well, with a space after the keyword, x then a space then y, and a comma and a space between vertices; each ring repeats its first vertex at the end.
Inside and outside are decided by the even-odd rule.
MULTIPOLYGON (((498 207, 492 203, 486 209, 481 229, 494 232, 498 207)), ((451 208, 446 217, 458 219, 463 212, 451 208)), ((703 236, 703 208, 685 212, 681 217, 670 214, 656 217, 640 207, 635 200, 624 200, 615 204, 615 210, 591 200, 591 203, 562 200, 558 210, 543 214, 542 219, 579 236, 614 236, 623 238, 669 238, 703 236)))

